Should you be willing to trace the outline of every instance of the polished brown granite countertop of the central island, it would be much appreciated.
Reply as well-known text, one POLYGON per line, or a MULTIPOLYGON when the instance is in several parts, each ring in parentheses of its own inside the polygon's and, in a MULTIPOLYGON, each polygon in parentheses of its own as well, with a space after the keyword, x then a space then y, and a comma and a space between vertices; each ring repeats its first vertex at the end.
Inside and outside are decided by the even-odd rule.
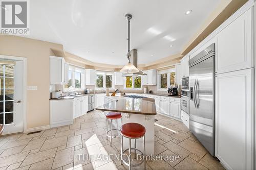
POLYGON ((122 96, 106 96, 112 102, 98 106, 100 111, 113 111, 131 114, 156 115, 155 100, 150 98, 133 99, 122 96))

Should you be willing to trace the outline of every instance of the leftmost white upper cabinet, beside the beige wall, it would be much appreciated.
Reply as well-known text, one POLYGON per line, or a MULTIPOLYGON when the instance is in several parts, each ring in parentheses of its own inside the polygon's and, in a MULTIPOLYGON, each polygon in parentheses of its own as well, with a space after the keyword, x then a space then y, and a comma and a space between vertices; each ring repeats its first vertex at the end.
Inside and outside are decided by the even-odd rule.
POLYGON ((69 65, 63 57, 50 56, 50 84, 68 83, 69 65))

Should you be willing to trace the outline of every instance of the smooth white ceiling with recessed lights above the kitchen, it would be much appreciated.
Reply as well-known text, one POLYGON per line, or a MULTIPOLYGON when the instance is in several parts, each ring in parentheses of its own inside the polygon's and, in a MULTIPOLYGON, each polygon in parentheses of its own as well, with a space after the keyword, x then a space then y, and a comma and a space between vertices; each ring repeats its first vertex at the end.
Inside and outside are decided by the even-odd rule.
POLYGON ((92 62, 127 63, 127 20, 138 64, 180 53, 221 0, 33 0, 29 38, 63 44, 92 62), (187 10, 193 10, 185 15, 187 10), (170 45, 173 45, 170 47, 170 45))

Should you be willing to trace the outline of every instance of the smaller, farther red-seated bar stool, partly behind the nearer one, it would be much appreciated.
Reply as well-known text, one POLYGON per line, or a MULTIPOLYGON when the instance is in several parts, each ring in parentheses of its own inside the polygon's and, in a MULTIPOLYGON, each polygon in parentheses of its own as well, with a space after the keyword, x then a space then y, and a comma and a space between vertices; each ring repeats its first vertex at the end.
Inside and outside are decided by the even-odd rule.
POLYGON ((118 136, 118 119, 121 118, 122 122, 122 115, 119 112, 108 112, 106 113, 106 140, 110 137, 110 146, 112 147, 112 138, 118 136), (109 119, 110 119, 110 130, 109 130, 109 119), (112 120, 116 120, 116 129, 112 129, 112 120), (112 130, 116 130, 116 135, 112 136, 112 130), (110 135, 108 134, 110 132, 110 135))

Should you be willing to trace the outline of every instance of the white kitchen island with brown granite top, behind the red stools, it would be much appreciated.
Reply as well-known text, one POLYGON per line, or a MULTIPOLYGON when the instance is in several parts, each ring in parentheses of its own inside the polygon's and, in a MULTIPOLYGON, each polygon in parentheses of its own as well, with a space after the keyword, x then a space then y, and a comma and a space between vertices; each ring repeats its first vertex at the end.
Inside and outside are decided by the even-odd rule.
MULTIPOLYGON (((145 127, 146 155, 154 155, 155 141, 155 100, 150 98, 132 99, 124 96, 104 96, 104 105, 96 107, 100 111, 122 113, 122 124, 138 123, 145 127)), ((120 125, 120 124, 119 124, 120 125)), ((114 125, 116 126, 116 125, 114 125)), ((118 127, 119 129, 120 127, 118 127)), ((132 140, 134 146, 134 140, 132 140)), ((123 138, 123 149, 129 148, 129 139, 123 138)), ((143 138, 136 139, 136 148, 143 151, 143 138)))

